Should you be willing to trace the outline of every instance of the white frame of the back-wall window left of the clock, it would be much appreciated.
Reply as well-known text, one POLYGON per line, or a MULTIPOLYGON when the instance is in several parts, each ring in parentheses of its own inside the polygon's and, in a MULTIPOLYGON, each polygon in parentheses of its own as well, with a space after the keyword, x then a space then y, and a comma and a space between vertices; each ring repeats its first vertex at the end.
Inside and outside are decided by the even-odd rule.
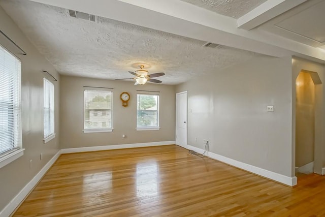
MULTIPOLYGON (((108 112, 106 112, 108 114, 108 112)), ((97 114, 96 117, 102 117, 103 115, 97 114)), ((106 116, 106 115, 105 115, 106 116)), ((102 123, 102 121, 101 121, 102 123)), ((102 124, 101 124, 102 126, 102 124)), ((86 88, 83 90, 83 132, 84 133, 107 133, 113 132, 113 91, 112 90, 103 90, 97 88, 86 88), (111 95, 111 128, 97 128, 97 129, 86 129, 86 102, 85 102, 85 94, 86 91, 103 91, 103 92, 110 92, 111 95)))

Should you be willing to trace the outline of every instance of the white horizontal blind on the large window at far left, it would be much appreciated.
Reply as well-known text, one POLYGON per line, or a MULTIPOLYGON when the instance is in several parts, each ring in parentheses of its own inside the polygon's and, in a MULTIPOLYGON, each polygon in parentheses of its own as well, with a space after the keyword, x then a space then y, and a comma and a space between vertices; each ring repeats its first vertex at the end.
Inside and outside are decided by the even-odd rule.
POLYGON ((21 63, 0 46, 0 158, 21 147, 21 63))

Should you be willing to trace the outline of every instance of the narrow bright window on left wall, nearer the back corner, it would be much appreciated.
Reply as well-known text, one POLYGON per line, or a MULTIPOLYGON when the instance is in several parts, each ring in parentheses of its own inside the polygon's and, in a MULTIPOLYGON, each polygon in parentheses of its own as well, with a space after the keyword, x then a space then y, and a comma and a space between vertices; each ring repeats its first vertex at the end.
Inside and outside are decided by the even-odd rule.
POLYGON ((55 138, 54 133, 54 84, 44 78, 44 143, 55 138))

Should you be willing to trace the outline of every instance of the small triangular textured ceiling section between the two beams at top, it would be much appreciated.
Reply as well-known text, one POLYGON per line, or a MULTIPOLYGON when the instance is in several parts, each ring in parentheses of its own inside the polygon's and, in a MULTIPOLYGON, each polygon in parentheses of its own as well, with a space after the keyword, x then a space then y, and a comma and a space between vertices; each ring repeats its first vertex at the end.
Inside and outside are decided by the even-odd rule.
POLYGON ((239 18, 267 0, 181 0, 229 17, 239 18))

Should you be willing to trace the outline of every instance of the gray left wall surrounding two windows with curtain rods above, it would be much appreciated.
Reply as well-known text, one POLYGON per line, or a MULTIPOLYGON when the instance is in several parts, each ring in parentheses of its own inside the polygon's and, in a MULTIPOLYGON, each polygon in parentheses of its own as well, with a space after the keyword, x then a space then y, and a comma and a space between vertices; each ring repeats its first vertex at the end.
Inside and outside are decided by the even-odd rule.
MULTIPOLYGON (((44 167, 59 150, 59 74, 23 35, 17 25, 0 7, 0 29, 27 55, 21 55, 4 37, 0 44, 17 55, 22 63, 22 145, 24 155, 0 168, 0 210, 2 210, 22 188, 44 167), (55 85, 55 133, 56 138, 43 143, 43 77, 47 70, 56 79, 55 85), (40 154, 43 153, 43 160, 40 154), (32 167, 29 168, 29 161, 32 167)), ((52 80, 51 80, 52 81, 52 80)))

